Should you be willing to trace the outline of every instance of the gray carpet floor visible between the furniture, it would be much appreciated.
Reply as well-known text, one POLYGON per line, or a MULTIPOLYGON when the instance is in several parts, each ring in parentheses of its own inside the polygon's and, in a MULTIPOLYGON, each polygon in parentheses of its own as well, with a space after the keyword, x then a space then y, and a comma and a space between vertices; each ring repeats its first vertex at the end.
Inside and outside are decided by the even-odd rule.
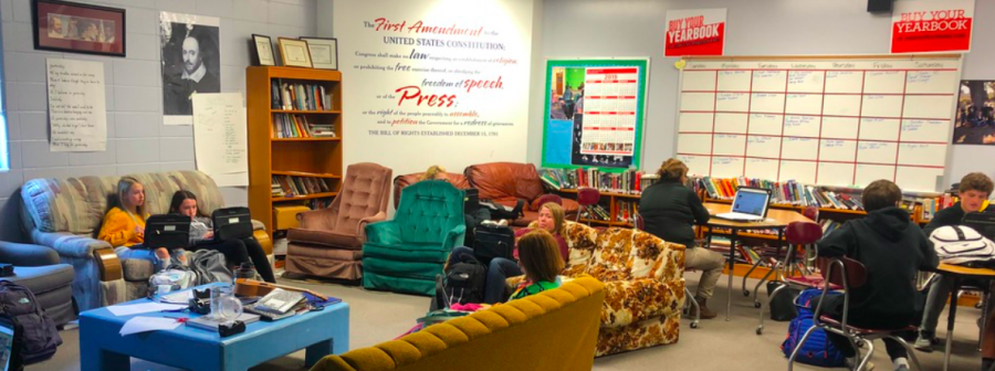
MULTIPOLYGON (((689 286, 694 287, 699 274, 687 276, 689 286)), ((713 309, 725 308, 725 277, 715 290, 713 309)), ((736 278, 739 285, 740 278, 736 278)), ((334 284, 314 284, 281 279, 283 284, 315 289, 323 294, 343 298, 350 306, 349 348, 369 347, 394 339, 415 325, 415 319, 425 315, 429 298, 389 293, 367 292, 357 287, 334 284)), ((752 287, 752 285, 751 285, 752 287)), ((681 338, 675 344, 637 350, 628 353, 603 357, 595 360, 595 370, 786 370, 787 362, 779 346, 787 333, 787 322, 766 321, 763 336, 756 336, 757 309, 752 299, 734 292, 732 321, 723 318, 703 320, 698 329, 689 328, 688 320, 681 327, 681 338)), ((978 370, 981 356, 975 350, 977 341, 978 309, 965 308, 957 312, 951 370, 978 370)), ((943 315, 942 327, 945 329, 943 315)), ((61 332, 65 341, 51 360, 28 367, 28 370, 78 370, 78 331, 67 329, 61 332)), ((940 330, 945 336, 945 330, 940 330)), ((891 362, 880 341, 876 343, 873 363, 877 370, 891 370, 891 362)), ((942 370, 942 352, 917 352, 925 370, 942 370)), ((273 360, 253 370, 302 370, 304 352, 295 352, 273 360)), ((133 359, 133 370, 176 370, 155 363, 133 359)), ((470 368, 472 369, 472 367, 470 368)), ((820 370, 800 364, 796 370, 820 370)))

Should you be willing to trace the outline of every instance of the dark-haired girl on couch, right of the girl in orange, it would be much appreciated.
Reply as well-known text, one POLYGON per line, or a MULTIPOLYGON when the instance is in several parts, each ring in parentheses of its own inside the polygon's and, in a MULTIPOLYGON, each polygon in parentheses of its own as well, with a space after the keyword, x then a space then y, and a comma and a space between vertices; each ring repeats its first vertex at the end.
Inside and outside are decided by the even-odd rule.
POLYGON ((187 251, 216 250, 224 255, 228 268, 238 267, 242 263, 252 263, 263 280, 276 283, 266 253, 254 237, 228 241, 214 239, 213 221, 200 212, 200 208, 197 205, 197 195, 193 192, 176 191, 172 194, 172 202, 169 203, 169 213, 190 218, 190 242, 187 251))

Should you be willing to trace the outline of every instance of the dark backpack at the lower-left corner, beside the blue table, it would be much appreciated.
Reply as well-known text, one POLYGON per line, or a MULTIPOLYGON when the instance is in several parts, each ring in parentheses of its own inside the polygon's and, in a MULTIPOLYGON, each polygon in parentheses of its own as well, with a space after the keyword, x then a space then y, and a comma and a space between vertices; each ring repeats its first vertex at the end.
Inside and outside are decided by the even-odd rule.
POLYGON ((13 354, 11 370, 52 358, 62 344, 55 322, 24 286, 0 280, 0 315, 9 318, 14 328, 13 349, 18 351, 13 354))

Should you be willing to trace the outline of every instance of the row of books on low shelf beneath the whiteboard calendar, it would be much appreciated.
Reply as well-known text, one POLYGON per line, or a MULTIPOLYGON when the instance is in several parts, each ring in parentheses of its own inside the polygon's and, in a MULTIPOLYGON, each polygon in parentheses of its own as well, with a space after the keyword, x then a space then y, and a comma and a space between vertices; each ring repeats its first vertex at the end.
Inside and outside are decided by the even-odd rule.
POLYGON ((860 199, 853 194, 829 191, 825 188, 805 186, 794 180, 775 182, 745 177, 719 179, 702 177, 692 180, 695 191, 704 191, 709 198, 731 200, 740 187, 771 190, 772 203, 827 209, 863 210, 860 199))

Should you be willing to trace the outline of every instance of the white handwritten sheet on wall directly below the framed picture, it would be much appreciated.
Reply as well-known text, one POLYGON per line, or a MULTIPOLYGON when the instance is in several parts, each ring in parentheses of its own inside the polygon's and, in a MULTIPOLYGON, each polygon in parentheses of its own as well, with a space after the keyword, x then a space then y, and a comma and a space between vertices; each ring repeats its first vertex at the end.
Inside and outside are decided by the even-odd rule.
POLYGON ((53 152, 107 148, 104 64, 48 59, 49 125, 53 152))

